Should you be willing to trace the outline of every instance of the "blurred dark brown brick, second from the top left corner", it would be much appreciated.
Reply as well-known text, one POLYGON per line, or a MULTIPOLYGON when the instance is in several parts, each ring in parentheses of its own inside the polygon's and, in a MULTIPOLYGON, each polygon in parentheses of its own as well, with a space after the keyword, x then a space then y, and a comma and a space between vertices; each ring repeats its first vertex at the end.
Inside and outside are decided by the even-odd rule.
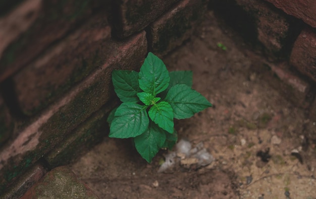
POLYGON ((19 107, 33 115, 99 68, 111 54, 107 17, 91 17, 13 77, 19 107))

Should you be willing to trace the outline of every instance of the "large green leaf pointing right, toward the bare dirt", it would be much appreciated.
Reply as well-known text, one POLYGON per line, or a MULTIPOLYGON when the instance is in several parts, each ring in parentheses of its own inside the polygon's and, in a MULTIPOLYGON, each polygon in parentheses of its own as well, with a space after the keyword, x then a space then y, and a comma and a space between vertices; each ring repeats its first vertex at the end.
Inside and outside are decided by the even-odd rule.
POLYGON ((200 93, 184 84, 173 86, 165 101, 171 105, 176 119, 192 117, 195 113, 212 106, 200 93))

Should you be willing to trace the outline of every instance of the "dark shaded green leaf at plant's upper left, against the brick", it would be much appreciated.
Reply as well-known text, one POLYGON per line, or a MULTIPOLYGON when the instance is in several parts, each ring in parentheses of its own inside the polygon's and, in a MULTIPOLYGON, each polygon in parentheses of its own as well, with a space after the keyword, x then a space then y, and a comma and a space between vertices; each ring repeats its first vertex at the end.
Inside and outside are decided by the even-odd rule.
POLYGON ((140 92, 138 85, 138 73, 135 71, 113 71, 112 82, 114 90, 122 102, 138 102, 137 93, 140 92))

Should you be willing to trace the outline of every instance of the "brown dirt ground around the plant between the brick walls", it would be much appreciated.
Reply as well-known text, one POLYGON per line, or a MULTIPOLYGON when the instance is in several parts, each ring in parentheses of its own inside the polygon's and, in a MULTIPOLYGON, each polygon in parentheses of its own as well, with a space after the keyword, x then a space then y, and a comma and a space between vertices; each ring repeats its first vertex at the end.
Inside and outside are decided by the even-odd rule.
POLYGON ((302 145, 311 121, 281 94, 264 58, 209 12, 163 61, 170 71, 192 70, 193 88, 214 104, 175 128, 215 161, 158 173, 168 151, 148 164, 130 140, 106 138, 71 165, 100 198, 316 198, 314 145, 302 145))

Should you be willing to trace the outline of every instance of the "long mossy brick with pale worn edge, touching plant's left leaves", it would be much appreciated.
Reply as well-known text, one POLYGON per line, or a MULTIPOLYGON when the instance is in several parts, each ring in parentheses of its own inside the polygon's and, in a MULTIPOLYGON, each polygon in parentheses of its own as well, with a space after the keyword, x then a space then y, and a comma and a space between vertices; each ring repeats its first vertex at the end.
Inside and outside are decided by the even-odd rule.
POLYGON ((147 53, 145 32, 112 43, 106 62, 16 133, 0 151, 0 194, 8 182, 51 151, 114 95, 113 70, 138 71, 147 53))

